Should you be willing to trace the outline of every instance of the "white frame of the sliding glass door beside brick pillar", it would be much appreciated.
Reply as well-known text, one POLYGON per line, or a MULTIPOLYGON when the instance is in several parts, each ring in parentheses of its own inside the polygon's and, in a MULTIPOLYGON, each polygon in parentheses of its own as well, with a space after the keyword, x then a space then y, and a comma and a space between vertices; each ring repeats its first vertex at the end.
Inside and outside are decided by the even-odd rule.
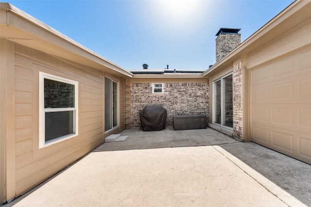
MULTIPOLYGON (((215 87, 215 84, 216 84, 217 81, 220 80, 221 81, 221 85, 222 85, 221 86, 221 92, 220 92, 221 93, 221 111, 225 111, 225 106, 223 104, 223 101, 225 99, 225 90, 224 90, 223 85, 224 85, 225 77, 230 76, 230 75, 232 75, 232 81, 233 81, 233 73, 229 73, 229 74, 221 77, 220 79, 217 79, 217 80, 213 81, 213 99, 214 99, 214 101, 213 101, 213 124, 232 130, 233 128, 227 127, 227 126, 224 125, 224 121, 225 121, 225 114, 224 113, 221 114, 221 116, 222 116, 221 117, 222 124, 216 123, 216 108, 215 108, 216 107, 216 87, 215 87)), ((232 87, 233 87, 233 84, 232 84, 232 87)))

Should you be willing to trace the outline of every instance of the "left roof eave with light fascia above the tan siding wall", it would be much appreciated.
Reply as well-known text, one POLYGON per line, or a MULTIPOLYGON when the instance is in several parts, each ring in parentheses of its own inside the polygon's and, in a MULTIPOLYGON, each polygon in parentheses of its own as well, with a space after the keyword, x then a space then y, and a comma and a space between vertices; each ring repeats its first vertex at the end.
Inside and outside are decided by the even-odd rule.
POLYGON ((24 40, 23 36, 7 38, 2 36, 2 33, 4 32, 1 32, 1 38, 7 38, 19 44, 25 44, 25 46, 28 47, 32 46, 32 44, 29 42, 36 41, 37 46, 40 47, 41 51, 49 53, 51 55, 59 56, 60 53, 57 53, 56 50, 52 50, 50 47, 46 47, 45 44, 50 43, 53 44, 55 48, 63 48, 65 51, 68 51, 71 54, 72 58, 73 56, 76 56, 75 60, 79 60, 81 57, 83 57, 84 60, 81 60, 81 64, 91 63, 92 66, 95 66, 96 69, 103 71, 107 71, 107 69, 110 69, 111 72, 114 73, 114 75, 119 75, 121 77, 133 77, 133 74, 131 72, 123 69, 117 64, 112 63, 111 61, 105 59, 94 51, 84 47, 83 45, 70 39, 68 36, 54 30, 53 28, 37 20, 33 16, 30 16, 27 13, 21 11, 10 3, 0 2, 0 12, 2 13, 1 16, 6 15, 5 19, 2 18, 0 20, 2 25, 5 24, 7 27, 14 27, 15 29, 19 29, 20 31, 27 32, 31 34, 34 38, 36 37, 37 39, 24 40), (6 14, 3 14, 3 12, 5 12, 6 14), (26 22, 21 23, 17 21, 17 18, 18 20, 26 22))

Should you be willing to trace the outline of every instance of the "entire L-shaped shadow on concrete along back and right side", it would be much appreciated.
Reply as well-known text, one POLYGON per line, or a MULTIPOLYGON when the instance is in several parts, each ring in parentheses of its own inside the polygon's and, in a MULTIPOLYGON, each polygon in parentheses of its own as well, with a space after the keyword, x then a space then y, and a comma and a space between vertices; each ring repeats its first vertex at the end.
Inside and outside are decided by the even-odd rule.
POLYGON ((104 143, 93 152, 219 145, 305 205, 311 206, 311 165, 259 144, 242 143, 211 128, 166 128, 152 132, 134 128, 122 131, 121 136, 129 137, 125 142, 104 143))

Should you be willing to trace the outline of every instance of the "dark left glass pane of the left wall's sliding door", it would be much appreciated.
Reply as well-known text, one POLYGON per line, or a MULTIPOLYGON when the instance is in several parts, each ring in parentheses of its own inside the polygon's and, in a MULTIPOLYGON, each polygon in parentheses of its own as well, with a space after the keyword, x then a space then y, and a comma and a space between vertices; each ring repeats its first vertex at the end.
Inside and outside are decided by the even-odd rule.
POLYGON ((112 86, 111 80, 105 78, 105 131, 112 128, 112 86))

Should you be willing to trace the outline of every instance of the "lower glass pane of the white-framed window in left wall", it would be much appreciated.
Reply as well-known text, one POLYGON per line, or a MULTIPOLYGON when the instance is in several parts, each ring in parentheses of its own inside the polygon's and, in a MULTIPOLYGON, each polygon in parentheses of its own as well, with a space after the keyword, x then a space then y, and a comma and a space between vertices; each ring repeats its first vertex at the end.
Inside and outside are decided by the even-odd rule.
POLYGON ((74 111, 45 113, 45 142, 73 134, 74 111))

